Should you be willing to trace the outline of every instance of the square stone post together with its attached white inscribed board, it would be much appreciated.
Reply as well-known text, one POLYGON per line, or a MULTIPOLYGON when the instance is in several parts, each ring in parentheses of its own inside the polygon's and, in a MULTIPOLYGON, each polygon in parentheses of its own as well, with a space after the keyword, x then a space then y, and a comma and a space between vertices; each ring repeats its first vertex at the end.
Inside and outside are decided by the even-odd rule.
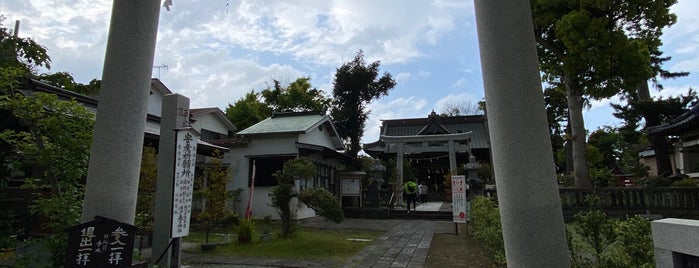
POLYGON ((189 234, 199 133, 190 125, 189 99, 163 96, 151 263, 179 267, 180 239, 189 234))

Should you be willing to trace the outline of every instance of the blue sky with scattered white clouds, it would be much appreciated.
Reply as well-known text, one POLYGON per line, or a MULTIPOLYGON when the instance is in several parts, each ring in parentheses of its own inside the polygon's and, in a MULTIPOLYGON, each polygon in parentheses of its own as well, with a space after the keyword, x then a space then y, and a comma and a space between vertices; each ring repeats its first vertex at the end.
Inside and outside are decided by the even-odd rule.
MULTIPOLYGON (((87 83, 102 76, 111 5, 3 0, 0 15, 3 27, 20 20, 19 36, 48 49, 49 72, 87 83)), ((664 67, 690 75, 661 81, 656 97, 699 89, 699 1, 679 0, 671 10, 678 20, 664 31, 661 50, 672 57, 664 67)), ((272 80, 310 77, 330 95, 336 69, 360 49, 397 82, 369 105, 364 143, 378 140, 383 119, 424 118, 484 98, 473 2, 463 0, 173 0, 160 12, 153 77, 189 97, 192 108, 225 112, 272 80)), ((619 124, 610 102, 619 99, 584 111, 588 130, 619 124)))

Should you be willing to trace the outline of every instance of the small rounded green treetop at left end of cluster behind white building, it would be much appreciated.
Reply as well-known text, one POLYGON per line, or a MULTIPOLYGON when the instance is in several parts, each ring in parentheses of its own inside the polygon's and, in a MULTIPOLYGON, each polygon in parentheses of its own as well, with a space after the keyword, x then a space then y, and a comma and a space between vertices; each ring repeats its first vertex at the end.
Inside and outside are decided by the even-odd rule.
POLYGON ((260 100, 260 93, 251 90, 226 108, 226 117, 239 130, 246 129, 272 116, 272 108, 260 100))

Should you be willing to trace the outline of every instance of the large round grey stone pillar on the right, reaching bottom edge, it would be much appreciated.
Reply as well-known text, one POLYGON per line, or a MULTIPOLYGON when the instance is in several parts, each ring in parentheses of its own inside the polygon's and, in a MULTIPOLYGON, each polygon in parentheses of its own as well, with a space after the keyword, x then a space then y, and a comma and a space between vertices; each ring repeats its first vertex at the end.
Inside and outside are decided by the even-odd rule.
POLYGON ((529 0, 475 0, 507 263, 570 267, 529 0))

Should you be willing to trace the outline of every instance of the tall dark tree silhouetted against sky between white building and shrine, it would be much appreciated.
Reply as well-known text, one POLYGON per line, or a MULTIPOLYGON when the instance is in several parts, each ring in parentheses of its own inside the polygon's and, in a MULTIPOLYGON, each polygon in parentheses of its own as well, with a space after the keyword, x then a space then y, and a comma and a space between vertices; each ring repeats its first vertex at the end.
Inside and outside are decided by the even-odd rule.
POLYGON ((359 141, 364 135, 369 111, 367 105, 396 86, 390 73, 379 77, 379 61, 366 64, 364 52, 359 51, 354 60, 343 64, 333 81, 333 107, 330 115, 335 121, 340 137, 349 142, 348 154, 356 157, 362 149, 359 141))

